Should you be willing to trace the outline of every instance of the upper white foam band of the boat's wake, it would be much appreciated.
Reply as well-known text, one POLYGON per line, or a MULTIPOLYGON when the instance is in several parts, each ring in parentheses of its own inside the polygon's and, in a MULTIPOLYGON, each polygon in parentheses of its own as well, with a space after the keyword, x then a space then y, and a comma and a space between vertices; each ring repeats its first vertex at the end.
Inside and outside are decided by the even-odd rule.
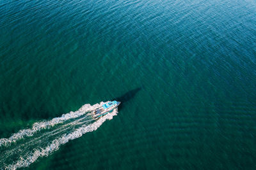
MULTIPOLYGON (((52 120, 48 121, 42 121, 42 122, 35 122, 31 129, 23 129, 19 132, 13 134, 10 138, 2 138, 0 139, 0 146, 9 146, 11 143, 15 143, 16 141, 19 141, 20 139, 26 137, 26 136, 33 136, 36 132, 42 130, 42 129, 49 129, 53 127, 56 124, 61 124, 67 120, 70 120, 72 118, 81 117, 81 115, 84 115, 85 113, 88 113, 92 110, 95 110, 96 108, 99 108, 100 104, 94 104, 91 106, 90 104, 84 104, 79 110, 73 112, 70 111, 70 113, 63 114, 61 117, 52 118, 52 120)), ((86 117, 90 116, 89 114, 86 115, 86 117)))

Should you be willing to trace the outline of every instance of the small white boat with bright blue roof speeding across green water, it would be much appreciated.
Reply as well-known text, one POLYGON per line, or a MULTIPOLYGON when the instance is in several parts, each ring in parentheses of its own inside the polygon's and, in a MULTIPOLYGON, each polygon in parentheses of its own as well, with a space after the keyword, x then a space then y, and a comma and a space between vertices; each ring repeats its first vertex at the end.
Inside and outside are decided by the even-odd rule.
POLYGON ((92 111, 92 117, 94 119, 98 119, 107 115, 109 112, 113 111, 115 108, 119 106, 121 102, 119 101, 111 101, 109 103, 103 104, 100 108, 92 111))

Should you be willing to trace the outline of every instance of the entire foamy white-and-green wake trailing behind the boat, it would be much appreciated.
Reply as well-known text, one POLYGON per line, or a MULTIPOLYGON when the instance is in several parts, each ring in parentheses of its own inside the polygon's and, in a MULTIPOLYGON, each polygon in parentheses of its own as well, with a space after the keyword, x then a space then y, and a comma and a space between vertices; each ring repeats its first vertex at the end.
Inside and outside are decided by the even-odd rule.
POLYGON ((97 130, 103 122, 111 120, 118 113, 115 109, 99 120, 93 120, 90 112, 102 104, 105 103, 93 106, 84 104, 75 112, 35 122, 31 129, 23 129, 10 138, 0 139, 0 169, 28 167, 39 157, 47 157, 68 141, 97 130))

